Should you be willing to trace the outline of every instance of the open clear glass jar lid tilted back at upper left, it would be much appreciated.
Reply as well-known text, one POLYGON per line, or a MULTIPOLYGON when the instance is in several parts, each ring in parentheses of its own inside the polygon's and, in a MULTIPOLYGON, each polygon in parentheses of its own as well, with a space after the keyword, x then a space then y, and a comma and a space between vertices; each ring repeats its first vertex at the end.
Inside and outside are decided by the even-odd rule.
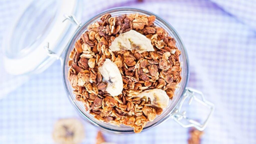
POLYGON ((77 25, 65 16, 81 19, 81 1, 33 1, 14 18, 3 38, 3 60, 8 73, 39 73, 48 68, 66 48, 77 25), (50 57, 49 51, 57 57, 50 57))

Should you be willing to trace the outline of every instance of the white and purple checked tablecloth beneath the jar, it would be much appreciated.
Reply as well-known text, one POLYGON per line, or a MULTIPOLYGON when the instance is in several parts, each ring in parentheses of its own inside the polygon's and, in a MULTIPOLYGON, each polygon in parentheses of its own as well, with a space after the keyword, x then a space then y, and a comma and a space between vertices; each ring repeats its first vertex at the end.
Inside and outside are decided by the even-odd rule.
MULTIPOLYGON (((5 27, 23 3, 0 0, 0 45, 5 27)), ((189 86, 204 92, 206 99, 216 105, 202 143, 256 143, 255 0, 85 0, 82 20, 116 6, 152 11, 172 24, 183 38, 190 60, 189 86)), ((29 79, 9 76, 2 64, 1 59, 0 143, 54 143, 54 122, 79 118, 66 97, 60 62, 29 79)), ((206 112, 195 106, 188 113, 196 117, 206 112)), ((95 143, 98 129, 88 122, 84 125, 83 143, 95 143)), ((188 130, 169 119, 140 134, 105 135, 115 143, 183 144, 187 143, 188 130)))

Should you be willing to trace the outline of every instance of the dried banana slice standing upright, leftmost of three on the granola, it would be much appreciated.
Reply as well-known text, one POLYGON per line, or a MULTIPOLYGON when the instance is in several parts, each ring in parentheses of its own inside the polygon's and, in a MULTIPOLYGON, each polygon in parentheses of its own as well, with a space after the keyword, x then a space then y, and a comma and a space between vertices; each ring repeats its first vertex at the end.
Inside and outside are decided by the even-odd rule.
POLYGON ((102 80, 107 82, 106 91, 113 97, 120 95, 123 90, 123 79, 116 64, 106 59, 98 70, 103 77, 102 80))

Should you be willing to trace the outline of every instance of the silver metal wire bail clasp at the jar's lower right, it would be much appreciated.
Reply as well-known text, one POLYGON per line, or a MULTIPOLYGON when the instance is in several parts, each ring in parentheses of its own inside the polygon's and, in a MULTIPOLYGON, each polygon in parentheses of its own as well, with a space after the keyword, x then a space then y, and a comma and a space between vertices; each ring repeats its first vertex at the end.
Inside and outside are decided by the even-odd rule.
POLYGON ((186 92, 185 92, 182 100, 180 101, 178 107, 176 109, 174 109, 174 112, 171 114, 171 117, 184 128, 195 127, 196 129, 202 131, 205 129, 214 109, 215 109, 214 104, 207 101, 205 99, 204 95, 202 94, 202 92, 195 90, 193 88, 186 88, 186 92), (192 100, 196 100, 200 104, 202 104, 210 109, 210 113, 204 122, 199 123, 196 120, 188 118, 186 116, 186 111, 181 112, 183 103, 184 103, 185 99, 187 99, 187 98, 189 98, 189 102, 188 102, 189 105, 191 104, 192 100), (185 122, 182 122, 182 120, 185 122))

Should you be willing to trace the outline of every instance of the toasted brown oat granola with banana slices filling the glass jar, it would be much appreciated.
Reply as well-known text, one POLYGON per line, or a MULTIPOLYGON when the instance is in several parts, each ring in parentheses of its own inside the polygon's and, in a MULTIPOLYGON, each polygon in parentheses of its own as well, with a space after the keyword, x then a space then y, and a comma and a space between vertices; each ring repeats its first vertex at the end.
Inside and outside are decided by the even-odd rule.
POLYGON ((154 21, 153 15, 105 14, 75 43, 68 79, 96 119, 139 133, 173 98, 180 51, 154 21))

